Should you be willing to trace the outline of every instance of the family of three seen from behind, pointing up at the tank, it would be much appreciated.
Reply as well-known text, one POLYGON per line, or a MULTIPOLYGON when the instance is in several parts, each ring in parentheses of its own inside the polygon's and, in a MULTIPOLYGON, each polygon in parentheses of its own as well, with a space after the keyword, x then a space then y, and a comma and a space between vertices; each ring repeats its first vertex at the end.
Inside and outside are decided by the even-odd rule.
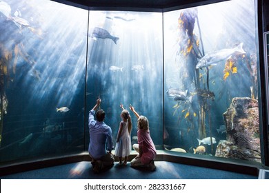
MULTIPOLYGON (((112 130, 110 126, 103 122, 106 114, 104 110, 97 110, 100 103, 101 99, 98 97, 97 103, 89 112, 89 154, 92 158, 92 167, 94 173, 99 173, 101 170, 112 167, 112 165, 114 165, 114 156, 111 152, 113 149, 112 130), (97 120, 94 120, 95 112, 97 120)), ((122 108, 122 121, 119 123, 119 131, 117 134, 117 143, 115 146, 114 155, 119 157, 119 164, 127 165, 128 156, 130 155, 130 151, 132 149, 130 141, 132 121, 128 110, 125 110, 123 105, 120 105, 120 107, 122 108)), ((156 168, 154 163, 156 149, 150 137, 148 119, 146 116, 139 116, 132 105, 130 105, 130 110, 135 113, 135 116, 137 116, 138 119, 138 144, 134 144, 132 147, 139 153, 135 159, 132 159, 130 163, 131 167, 146 167, 148 170, 153 171, 156 168)))

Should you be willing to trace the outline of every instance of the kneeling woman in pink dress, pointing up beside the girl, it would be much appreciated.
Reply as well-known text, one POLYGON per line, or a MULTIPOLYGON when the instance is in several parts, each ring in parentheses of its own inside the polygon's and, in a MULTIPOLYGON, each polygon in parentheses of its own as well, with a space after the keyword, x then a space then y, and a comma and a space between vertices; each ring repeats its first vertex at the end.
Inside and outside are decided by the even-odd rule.
POLYGON ((156 169, 154 159, 156 156, 156 148, 150 137, 150 127, 146 116, 139 116, 135 108, 130 105, 130 110, 137 116, 137 139, 138 144, 132 147, 139 153, 135 159, 131 161, 131 167, 148 167, 153 171, 156 169))

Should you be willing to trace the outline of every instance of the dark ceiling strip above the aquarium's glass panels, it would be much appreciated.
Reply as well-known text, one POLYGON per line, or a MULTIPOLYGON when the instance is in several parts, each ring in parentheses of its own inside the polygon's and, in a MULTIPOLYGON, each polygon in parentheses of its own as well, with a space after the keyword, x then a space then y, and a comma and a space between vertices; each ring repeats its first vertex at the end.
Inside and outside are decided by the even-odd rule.
POLYGON ((52 0, 87 10, 137 10, 166 12, 223 0, 52 0))

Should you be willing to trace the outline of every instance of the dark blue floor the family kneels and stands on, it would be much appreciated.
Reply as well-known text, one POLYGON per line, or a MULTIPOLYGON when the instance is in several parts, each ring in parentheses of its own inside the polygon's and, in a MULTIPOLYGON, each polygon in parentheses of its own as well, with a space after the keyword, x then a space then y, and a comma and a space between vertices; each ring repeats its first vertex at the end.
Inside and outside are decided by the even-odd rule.
POLYGON ((155 161, 154 172, 137 170, 128 165, 115 163, 106 172, 94 174, 88 161, 70 163, 39 170, 31 170, 7 176, 1 179, 258 179, 258 176, 239 174, 206 167, 184 165, 168 161, 155 161))

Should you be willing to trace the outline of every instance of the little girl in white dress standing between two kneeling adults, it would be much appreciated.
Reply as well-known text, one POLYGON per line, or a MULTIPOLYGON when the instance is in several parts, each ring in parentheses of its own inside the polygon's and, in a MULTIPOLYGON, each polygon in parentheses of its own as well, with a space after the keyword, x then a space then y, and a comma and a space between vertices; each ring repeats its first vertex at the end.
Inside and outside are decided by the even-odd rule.
POLYGON ((119 123, 119 131, 117 134, 117 143, 115 148, 115 156, 119 156, 119 164, 122 164, 122 157, 124 157, 123 165, 127 165, 128 156, 130 155, 131 150, 131 140, 130 134, 132 131, 132 121, 131 116, 128 110, 123 108, 121 104, 120 107, 122 108, 121 112, 121 123, 119 123))

